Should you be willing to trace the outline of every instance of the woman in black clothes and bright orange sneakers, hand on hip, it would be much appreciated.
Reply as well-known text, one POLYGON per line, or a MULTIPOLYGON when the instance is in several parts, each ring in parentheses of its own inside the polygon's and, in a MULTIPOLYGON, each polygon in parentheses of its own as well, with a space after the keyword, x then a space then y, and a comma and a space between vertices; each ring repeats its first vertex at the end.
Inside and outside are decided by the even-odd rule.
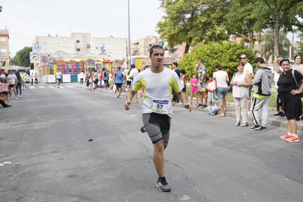
POLYGON ((286 114, 288 132, 280 138, 287 142, 299 142, 300 138, 297 133, 296 121, 299 120, 302 114, 301 93, 303 92, 303 85, 298 89, 298 82, 303 82, 303 76, 300 72, 291 69, 288 58, 281 59, 281 67, 283 72, 277 82, 278 97, 286 114))

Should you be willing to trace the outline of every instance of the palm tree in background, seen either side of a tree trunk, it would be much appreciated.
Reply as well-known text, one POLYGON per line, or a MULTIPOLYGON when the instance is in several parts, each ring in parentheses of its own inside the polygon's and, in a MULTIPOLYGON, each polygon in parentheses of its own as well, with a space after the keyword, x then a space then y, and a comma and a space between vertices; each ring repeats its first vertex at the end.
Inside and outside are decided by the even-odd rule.
MULTIPOLYGON (((264 32, 262 36, 262 41, 264 43, 264 51, 263 47, 261 55, 263 58, 268 60, 269 58, 274 58, 274 47, 275 47, 275 32, 273 29, 268 29, 264 32), (265 55, 263 55, 263 52, 265 55)), ((291 41, 287 38, 287 33, 284 31, 280 31, 279 33, 279 51, 280 55, 288 56, 289 55, 289 47, 291 46, 291 41)), ((278 56, 278 55, 276 55, 278 56)))

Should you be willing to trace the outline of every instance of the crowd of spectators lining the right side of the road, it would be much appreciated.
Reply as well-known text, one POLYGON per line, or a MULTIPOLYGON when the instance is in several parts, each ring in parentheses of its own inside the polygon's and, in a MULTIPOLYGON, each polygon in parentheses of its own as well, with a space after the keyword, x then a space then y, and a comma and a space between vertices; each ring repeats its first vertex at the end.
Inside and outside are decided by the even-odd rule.
MULTIPOLYGON (((184 84, 183 92, 186 92, 186 86, 189 85, 190 104, 195 103, 197 108, 207 108, 207 113, 211 116, 225 117, 227 111, 226 95, 230 90, 235 103, 236 122, 234 126, 248 127, 248 119, 252 118, 253 125, 250 126, 250 130, 266 131, 268 104, 272 93, 272 70, 267 67, 263 58, 255 58, 254 63, 257 67, 255 73, 252 65, 248 62, 247 55, 242 54, 237 64, 238 71, 233 74, 231 80, 221 64, 217 64, 216 71, 209 73, 207 77, 207 67, 203 64, 202 58, 197 58, 194 71, 187 74, 191 75, 189 79, 185 76, 185 70, 178 68, 178 63, 173 63, 172 68, 184 84), (228 86, 228 84, 230 85, 228 86), (193 102, 194 98, 195 102, 193 102), (220 114, 218 114, 219 112, 220 114), (259 119, 260 112, 261 121, 259 119)), ((301 55, 295 55, 295 63, 291 65, 288 58, 278 56, 273 64, 278 111, 274 116, 287 118, 288 121, 288 130, 280 138, 287 142, 298 142, 300 138, 296 121, 303 119, 301 101, 301 97, 303 97, 302 58, 301 55)), ((100 88, 107 91, 107 88, 110 88, 117 93, 117 98, 120 98, 121 92, 128 92, 132 88, 134 78, 138 73, 147 68, 148 66, 145 66, 141 70, 137 70, 132 64, 130 70, 118 67, 112 72, 108 72, 104 68, 99 71, 90 71, 86 81, 87 90, 93 91, 100 88)), ((85 78, 83 72, 80 78, 82 79, 80 85, 83 85, 83 78, 85 78)), ((142 88, 139 93, 142 96, 144 89, 142 88)), ((172 90, 171 96, 172 103, 179 103, 178 95, 174 90, 172 90)), ((138 103, 137 94, 132 103, 138 103)))

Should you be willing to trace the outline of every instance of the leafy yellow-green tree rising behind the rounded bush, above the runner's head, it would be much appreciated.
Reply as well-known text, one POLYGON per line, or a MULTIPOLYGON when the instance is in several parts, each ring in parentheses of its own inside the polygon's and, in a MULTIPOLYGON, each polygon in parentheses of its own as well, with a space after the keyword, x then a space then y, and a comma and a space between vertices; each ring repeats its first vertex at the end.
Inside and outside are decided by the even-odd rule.
POLYGON ((228 40, 224 20, 226 0, 159 0, 165 12, 157 23, 160 38, 168 47, 186 42, 185 51, 202 41, 228 40))

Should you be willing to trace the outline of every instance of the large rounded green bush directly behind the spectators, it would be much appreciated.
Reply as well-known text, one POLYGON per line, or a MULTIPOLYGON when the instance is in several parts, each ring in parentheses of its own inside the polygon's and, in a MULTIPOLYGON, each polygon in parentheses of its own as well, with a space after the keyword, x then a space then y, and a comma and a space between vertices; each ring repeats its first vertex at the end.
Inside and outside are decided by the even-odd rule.
POLYGON ((221 64, 224 71, 228 72, 230 78, 237 71, 237 64, 241 61, 241 55, 248 56, 248 62, 255 67, 254 60, 256 52, 250 47, 244 45, 244 41, 240 44, 237 42, 216 42, 216 43, 200 43, 191 52, 184 55, 181 60, 180 69, 185 69, 186 76, 191 78, 191 74, 195 71, 195 65, 198 58, 203 59, 203 64, 207 69, 206 76, 214 73, 216 64, 221 64))

